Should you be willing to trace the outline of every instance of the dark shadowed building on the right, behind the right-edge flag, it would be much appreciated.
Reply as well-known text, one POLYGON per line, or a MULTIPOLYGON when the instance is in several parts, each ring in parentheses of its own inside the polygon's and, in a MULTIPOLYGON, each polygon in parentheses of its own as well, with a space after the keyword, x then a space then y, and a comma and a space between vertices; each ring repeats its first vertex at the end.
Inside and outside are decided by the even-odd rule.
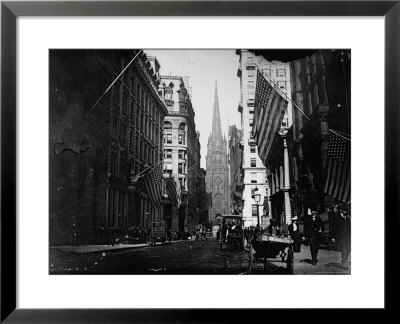
POLYGON ((324 192, 329 130, 351 134, 350 50, 319 50, 292 61, 294 109, 288 133, 293 212, 301 219, 308 209, 321 212, 335 199, 324 192))

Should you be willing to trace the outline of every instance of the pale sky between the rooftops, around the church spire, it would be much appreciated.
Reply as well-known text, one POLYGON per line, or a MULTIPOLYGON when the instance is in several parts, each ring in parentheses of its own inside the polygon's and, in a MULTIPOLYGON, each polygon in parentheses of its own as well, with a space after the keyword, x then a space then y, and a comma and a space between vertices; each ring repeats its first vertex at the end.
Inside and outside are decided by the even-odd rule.
POLYGON ((192 88, 195 123, 200 131, 201 167, 206 167, 207 141, 211 133, 215 81, 218 82, 222 134, 228 140, 228 125, 240 127, 239 56, 235 50, 144 50, 157 57, 162 75, 188 76, 192 88), (228 122, 229 121, 229 122, 228 122))

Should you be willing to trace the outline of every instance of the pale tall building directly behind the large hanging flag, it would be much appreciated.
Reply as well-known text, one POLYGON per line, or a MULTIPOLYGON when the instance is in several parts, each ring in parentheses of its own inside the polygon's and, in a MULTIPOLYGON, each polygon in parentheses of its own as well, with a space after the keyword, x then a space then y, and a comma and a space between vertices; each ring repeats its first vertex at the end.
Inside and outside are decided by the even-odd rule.
MULTIPOLYGON (((290 65, 279 61, 269 62, 262 55, 256 55, 254 51, 237 50, 239 55, 238 77, 240 78, 241 102, 238 111, 241 113, 243 130, 243 219, 245 226, 265 227, 269 224, 270 202, 269 186, 267 182, 267 170, 258 155, 258 148, 253 137, 255 91, 257 82, 257 69, 263 75, 272 79, 285 93, 291 94, 290 65), (258 203, 253 199, 254 193, 260 194, 258 203)), ((283 120, 283 126, 287 128, 292 122, 292 107, 289 103, 287 113, 283 120)))

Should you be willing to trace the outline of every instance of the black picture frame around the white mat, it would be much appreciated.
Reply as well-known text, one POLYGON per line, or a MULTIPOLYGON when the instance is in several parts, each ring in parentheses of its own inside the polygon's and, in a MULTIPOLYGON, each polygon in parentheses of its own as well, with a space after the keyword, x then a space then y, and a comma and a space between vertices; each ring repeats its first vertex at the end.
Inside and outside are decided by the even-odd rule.
MULTIPOLYGON (((384 16, 385 262, 399 231, 400 4, 396 1, 2 1, 1 2, 1 321, 6 323, 216 322, 239 310, 16 308, 16 19, 19 16, 384 16), (215 317, 217 316, 217 317, 215 317)), ((373 46, 371 44, 371 46, 373 46)), ((368 154, 368 153, 366 153, 368 154)), ((398 280, 385 264, 385 309, 398 280)), ((270 311, 270 310, 269 310, 270 311)), ((252 316, 264 316, 254 311, 252 316)), ((271 314, 271 313, 269 313, 271 314)), ((269 315, 270 316, 270 315, 269 315)))

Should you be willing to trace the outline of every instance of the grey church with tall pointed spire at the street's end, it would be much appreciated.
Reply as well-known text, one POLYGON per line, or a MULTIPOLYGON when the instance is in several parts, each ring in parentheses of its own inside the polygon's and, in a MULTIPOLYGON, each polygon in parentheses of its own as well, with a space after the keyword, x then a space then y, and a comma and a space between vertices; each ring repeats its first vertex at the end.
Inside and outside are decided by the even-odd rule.
POLYGON ((222 215, 231 213, 228 159, 227 141, 225 136, 222 137, 218 89, 217 82, 215 82, 213 124, 208 138, 206 157, 206 186, 212 199, 209 222, 212 224, 219 222, 222 215))

